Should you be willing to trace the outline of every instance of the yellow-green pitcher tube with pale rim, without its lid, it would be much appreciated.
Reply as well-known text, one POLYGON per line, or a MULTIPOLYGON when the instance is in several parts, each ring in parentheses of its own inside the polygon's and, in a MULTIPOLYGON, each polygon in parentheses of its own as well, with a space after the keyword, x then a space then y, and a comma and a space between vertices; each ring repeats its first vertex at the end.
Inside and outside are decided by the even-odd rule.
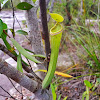
POLYGON ((57 58, 59 54, 59 46, 62 37, 62 26, 59 23, 56 23, 54 27, 50 30, 50 40, 51 40, 51 55, 50 55, 50 62, 48 67, 47 75, 45 76, 42 88, 45 89, 49 86, 52 82, 54 77, 54 73, 56 70, 57 58))

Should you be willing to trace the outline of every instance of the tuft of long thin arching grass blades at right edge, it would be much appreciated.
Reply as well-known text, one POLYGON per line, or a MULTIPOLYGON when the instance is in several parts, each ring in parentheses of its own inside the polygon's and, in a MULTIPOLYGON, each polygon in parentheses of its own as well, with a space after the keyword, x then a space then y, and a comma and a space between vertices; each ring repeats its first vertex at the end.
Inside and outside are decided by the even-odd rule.
MULTIPOLYGON (((89 57, 92 58, 92 61, 95 62, 95 65, 91 63, 92 64, 91 67, 100 69, 99 67, 100 41, 98 34, 91 31, 90 28, 88 28, 85 24, 81 26, 78 25, 77 22, 75 22, 75 25, 72 25, 70 27, 71 29, 73 29, 70 31, 70 33, 72 33, 72 35, 75 37, 75 40, 78 42, 79 46, 81 45, 84 48, 85 52, 87 52, 89 57)), ((89 60, 88 63, 89 62, 91 62, 91 60, 89 60)))

